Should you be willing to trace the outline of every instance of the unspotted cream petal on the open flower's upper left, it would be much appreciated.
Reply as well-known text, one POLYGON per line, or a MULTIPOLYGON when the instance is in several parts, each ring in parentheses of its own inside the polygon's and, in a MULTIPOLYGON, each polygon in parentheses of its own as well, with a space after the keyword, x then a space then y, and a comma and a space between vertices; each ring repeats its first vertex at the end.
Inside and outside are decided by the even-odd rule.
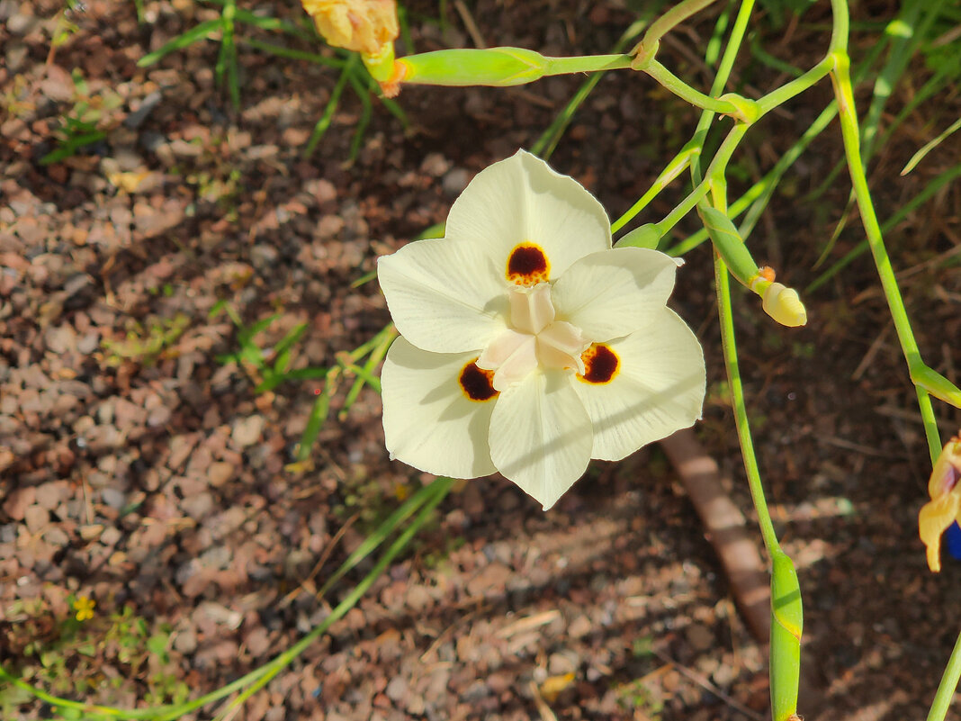
POLYGON ((402 336, 433 353, 480 351, 506 328, 508 286, 476 245, 449 237, 378 259, 387 308, 402 336))

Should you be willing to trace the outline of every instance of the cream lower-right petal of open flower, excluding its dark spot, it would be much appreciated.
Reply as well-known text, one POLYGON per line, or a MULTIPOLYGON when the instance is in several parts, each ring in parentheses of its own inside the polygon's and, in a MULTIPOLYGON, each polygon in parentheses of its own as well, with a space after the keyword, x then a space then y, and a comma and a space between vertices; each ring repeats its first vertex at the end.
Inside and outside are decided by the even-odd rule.
POLYGON ((677 313, 661 309, 645 330, 607 346, 619 360, 611 380, 574 383, 594 428, 591 458, 621 460, 701 418, 704 356, 677 313))

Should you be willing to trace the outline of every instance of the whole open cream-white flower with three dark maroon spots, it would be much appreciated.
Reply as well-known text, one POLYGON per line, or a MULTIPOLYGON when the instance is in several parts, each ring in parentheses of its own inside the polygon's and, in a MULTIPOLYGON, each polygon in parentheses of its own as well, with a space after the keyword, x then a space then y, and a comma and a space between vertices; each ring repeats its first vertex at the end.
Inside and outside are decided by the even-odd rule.
POLYGON ((391 458, 500 471, 547 510, 592 458, 701 417, 701 345, 666 306, 679 263, 613 250, 577 181, 519 151, 464 189, 446 232, 378 262, 402 336, 381 376, 391 458))

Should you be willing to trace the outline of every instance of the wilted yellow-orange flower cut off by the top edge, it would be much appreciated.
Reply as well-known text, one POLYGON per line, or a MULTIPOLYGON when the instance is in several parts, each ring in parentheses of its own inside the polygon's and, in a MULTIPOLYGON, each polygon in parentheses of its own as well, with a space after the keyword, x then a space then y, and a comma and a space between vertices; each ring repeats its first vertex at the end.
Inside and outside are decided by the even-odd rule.
POLYGON ((303 0, 317 31, 334 47, 379 56, 397 37, 394 0, 303 0))

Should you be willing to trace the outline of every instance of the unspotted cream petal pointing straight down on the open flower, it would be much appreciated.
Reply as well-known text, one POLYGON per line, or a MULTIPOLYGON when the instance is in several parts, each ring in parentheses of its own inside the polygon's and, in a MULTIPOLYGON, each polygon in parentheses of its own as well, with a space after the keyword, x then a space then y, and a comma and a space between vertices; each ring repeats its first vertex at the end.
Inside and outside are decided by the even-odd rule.
POLYGON ((490 419, 494 465, 544 510, 583 475, 591 457, 591 421, 570 378, 531 373, 501 394, 490 419))

